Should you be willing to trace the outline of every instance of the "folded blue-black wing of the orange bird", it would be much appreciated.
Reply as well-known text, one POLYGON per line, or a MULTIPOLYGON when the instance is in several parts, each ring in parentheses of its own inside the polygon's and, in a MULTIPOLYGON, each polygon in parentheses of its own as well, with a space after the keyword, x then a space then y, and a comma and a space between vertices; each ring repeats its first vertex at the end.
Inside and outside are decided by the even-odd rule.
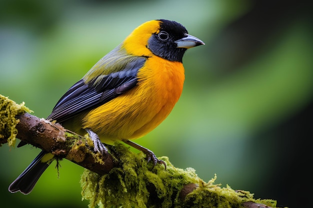
POLYGON ((62 123, 133 88, 137 84, 137 72, 145 60, 138 57, 125 64, 123 69, 107 75, 98 75, 87 83, 83 79, 79 80, 59 99, 47 119, 62 123))

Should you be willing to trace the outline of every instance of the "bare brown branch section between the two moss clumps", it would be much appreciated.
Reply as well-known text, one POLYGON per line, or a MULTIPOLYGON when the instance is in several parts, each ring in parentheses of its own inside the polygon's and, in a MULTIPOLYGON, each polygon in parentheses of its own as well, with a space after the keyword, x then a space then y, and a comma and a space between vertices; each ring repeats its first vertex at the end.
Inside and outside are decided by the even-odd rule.
POLYGON ((16 137, 25 143, 51 152, 58 158, 65 158, 100 175, 107 174, 116 166, 111 155, 102 158, 99 153, 91 150, 92 142, 64 129, 58 123, 51 123, 28 113, 17 118, 19 123, 16 125, 18 131, 16 137))

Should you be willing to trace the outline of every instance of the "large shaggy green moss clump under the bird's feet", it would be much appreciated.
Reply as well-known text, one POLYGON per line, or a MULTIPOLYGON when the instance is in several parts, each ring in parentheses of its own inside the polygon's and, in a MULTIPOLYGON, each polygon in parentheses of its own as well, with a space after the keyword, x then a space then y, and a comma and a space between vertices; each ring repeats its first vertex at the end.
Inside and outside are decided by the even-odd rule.
POLYGON ((255 202, 275 207, 272 200, 254 200, 245 191, 215 185, 216 177, 208 183, 197 177, 192 168, 173 167, 162 157, 167 168, 156 165, 152 171, 142 153, 134 154, 124 145, 109 147, 120 167, 100 176, 85 170, 81 176, 82 199, 89 200, 89 208, 243 208, 243 202, 255 202), (188 184, 197 188, 181 198, 180 191, 188 184))

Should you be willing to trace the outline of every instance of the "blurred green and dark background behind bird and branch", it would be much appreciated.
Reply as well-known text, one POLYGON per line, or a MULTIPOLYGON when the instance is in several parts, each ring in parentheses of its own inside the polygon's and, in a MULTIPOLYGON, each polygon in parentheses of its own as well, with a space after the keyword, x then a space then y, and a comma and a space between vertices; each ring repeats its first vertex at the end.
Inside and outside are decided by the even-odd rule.
MULTIPOLYGON (((205 181, 308 205, 313 70, 310 1, 1 0, 0 94, 47 117, 65 91, 139 24, 176 20, 204 46, 184 56, 185 84, 169 117, 136 142, 205 181), (305 2, 305 3, 304 3, 305 2)), ((55 163, 28 196, 9 184, 39 152, 0 149, 0 207, 86 208, 83 171, 55 163)))

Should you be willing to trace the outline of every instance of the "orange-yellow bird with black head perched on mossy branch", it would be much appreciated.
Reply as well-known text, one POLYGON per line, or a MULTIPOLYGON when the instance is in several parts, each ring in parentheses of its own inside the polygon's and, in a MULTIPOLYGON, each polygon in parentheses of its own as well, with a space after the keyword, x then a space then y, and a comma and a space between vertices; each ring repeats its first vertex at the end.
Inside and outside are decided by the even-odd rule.
MULTIPOLYGON (((152 151, 131 140, 168 116, 183 88, 182 57, 188 48, 203 44, 176 21, 144 22, 68 89, 47 120, 77 134, 87 132, 94 152, 103 156, 108 154, 104 144, 122 141, 142 151, 153 167, 163 164, 166 169, 152 151)), ((42 150, 8 191, 29 194, 53 160, 42 150)))

